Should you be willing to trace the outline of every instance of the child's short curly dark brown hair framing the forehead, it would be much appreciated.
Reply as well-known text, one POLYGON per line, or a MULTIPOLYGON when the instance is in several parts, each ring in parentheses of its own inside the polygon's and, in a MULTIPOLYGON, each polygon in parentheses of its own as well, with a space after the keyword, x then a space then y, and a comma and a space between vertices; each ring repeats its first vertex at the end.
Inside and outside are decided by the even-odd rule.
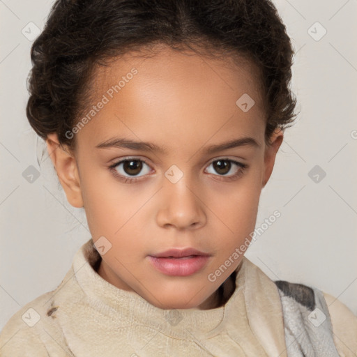
POLYGON ((264 91, 266 143, 297 114, 289 89, 294 51, 270 0, 56 0, 31 47, 26 115, 43 139, 61 145, 93 100, 96 66, 131 50, 163 44, 205 56, 248 59, 264 91))

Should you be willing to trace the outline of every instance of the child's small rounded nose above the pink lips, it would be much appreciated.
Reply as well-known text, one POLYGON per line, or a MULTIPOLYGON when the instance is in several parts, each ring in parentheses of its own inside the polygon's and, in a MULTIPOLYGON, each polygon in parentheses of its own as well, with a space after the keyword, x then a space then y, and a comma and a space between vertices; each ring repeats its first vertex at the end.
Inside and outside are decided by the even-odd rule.
POLYGON ((206 224, 205 204, 188 175, 176 183, 165 180, 160 190, 157 222, 160 227, 198 229, 206 224))

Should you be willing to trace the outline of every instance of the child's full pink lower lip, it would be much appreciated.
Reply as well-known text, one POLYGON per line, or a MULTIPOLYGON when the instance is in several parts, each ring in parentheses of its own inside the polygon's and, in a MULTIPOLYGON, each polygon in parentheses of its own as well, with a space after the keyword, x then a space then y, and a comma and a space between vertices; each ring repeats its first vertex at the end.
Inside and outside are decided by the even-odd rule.
POLYGON ((152 257, 149 261, 161 273, 174 276, 188 276, 197 273, 204 267, 209 259, 208 255, 195 255, 183 258, 163 258, 152 257))

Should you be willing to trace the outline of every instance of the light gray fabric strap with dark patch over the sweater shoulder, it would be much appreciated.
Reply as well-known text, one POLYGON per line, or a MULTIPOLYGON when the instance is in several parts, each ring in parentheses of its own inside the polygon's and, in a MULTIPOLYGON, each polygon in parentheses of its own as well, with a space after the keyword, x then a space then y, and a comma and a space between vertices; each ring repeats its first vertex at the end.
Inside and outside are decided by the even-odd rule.
POLYGON ((277 281, 288 357, 339 357, 322 291, 277 281))

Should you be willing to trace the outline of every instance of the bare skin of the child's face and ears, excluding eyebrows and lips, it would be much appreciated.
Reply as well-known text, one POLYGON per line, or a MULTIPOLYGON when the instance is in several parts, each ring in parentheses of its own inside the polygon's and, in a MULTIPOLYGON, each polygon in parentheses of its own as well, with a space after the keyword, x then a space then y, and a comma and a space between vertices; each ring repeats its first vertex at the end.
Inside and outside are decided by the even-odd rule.
POLYGON ((109 102, 75 134, 75 153, 59 146, 55 133, 47 137, 47 150, 68 202, 84 207, 93 241, 105 236, 112 244, 102 255, 98 274, 103 279, 164 309, 215 307, 215 291, 243 255, 214 282, 208 274, 254 231, 261 189, 271 176, 282 131, 275 130, 271 146, 264 142, 266 114, 252 65, 242 61, 234 66, 229 59, 169 48, 145 59, 126 54, 98 69, 93 105, 132 68, 137 74, 113 98, 107 96, 109 102), (236 105, 244 93, 255 100, 248 112, 236 105), (152 142, 167 153, 96 148, 112 137, 152 142), (206 146, 241 137, 252 137, 259 147, 204 153, 206 146), (137 177, 134 183, 108 169, 128 157, 149 164, 142 162, 141 171, 116 167, 119 174, 137 177), (231 162, 229 169, 225 161, 227 168, 220 171, 219 159, 248 167, 242 171, 231 162), (176 183, 165 176, 172 165, 183 173, 176 183), (237 172, 241 175, 229 180, 237 172), (211 255, 204 268, 189 276, 160 273, 147 257, 187 247, 211 255))

